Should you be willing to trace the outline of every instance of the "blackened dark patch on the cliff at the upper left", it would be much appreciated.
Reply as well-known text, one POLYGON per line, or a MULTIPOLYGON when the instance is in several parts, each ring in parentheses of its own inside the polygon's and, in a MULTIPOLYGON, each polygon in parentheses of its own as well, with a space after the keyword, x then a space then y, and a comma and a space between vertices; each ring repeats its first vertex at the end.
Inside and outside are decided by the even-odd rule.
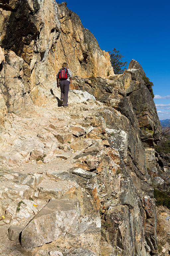
POLYGON ((38 28, 35 13, 39 10, 39 3, 34 0, 31 7, 26 0, 17 2, 15 10, 11 12, 8 19, 10 25, 7 27, 1 47, 20 55, 24 45, 30 45, 37 36, 38 28))

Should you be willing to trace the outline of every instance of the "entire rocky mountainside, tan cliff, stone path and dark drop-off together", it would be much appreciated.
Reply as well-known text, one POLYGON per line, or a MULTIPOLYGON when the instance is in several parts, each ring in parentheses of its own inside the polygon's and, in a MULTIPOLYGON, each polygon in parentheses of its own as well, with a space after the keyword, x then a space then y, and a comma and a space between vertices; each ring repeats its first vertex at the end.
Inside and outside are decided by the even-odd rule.
POLYGON ((0 8, 1 255, 157 254, 161 126, 142 67, 114 75, 65 2, 0 8), (67 109, 55 81, 65 61, 67 109))

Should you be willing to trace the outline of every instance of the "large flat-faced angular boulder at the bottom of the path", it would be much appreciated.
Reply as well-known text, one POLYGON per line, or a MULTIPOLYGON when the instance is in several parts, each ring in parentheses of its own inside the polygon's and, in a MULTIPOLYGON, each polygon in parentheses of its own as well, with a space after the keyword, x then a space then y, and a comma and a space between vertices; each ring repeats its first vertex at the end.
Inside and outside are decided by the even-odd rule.
POLYGON ((26 248, 52 242, 77 230, 80 214, 76 199, 53 199, 23 229, 21 245, 26 248))

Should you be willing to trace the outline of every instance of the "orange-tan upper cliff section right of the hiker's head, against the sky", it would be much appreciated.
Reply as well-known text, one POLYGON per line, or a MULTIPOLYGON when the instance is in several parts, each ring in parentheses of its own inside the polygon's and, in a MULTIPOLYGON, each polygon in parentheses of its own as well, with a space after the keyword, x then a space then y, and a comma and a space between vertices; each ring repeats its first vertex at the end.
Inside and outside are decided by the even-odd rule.
POLYGON ((57 40, 56 52, 59 59, 67 60, 74 75, 106 77, 108 72, 113 75, 108 52, 99 48, 93 34, 83 27, 76 13, 68 10, 66 2, 58 6, 61 34, 57 40))

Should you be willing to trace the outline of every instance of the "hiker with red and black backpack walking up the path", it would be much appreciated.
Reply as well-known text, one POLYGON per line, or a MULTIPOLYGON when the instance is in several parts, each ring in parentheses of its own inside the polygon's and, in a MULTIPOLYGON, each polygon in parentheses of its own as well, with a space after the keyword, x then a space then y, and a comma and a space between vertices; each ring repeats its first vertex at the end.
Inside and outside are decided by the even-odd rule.
POLYGON ((72 83, 72 73, 71 70, 68 68, 67 63, 62 64, 62 68, 57 73, 57 87, 61 89, 61 98, 60 98, 60 104, 63 104, 63 107, 68 107, 68 91, 69 91, 69 85, 72 83), (58 83, 59 80, 59 83, 58 83))

